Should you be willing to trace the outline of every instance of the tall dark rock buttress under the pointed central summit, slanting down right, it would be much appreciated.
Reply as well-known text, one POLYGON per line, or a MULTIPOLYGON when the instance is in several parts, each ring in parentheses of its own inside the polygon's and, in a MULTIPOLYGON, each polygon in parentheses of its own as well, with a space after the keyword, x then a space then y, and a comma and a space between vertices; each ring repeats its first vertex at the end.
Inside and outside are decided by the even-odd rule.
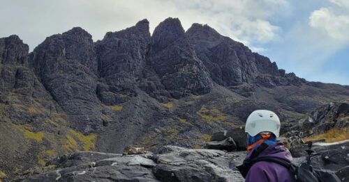
POLYGON ((186 38, 179 19, 165 19, 155 28, 149 54, 161 83, 175 99, 211 90, 209 74, 186 38))

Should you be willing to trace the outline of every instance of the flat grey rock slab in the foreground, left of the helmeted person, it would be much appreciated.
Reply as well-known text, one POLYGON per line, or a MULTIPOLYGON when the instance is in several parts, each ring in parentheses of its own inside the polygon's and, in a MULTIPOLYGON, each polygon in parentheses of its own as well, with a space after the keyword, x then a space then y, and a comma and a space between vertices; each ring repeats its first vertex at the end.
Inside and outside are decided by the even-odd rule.
POLYGON ((56 167, 24 181, 244 181, 236 165, 246 151, 165 146, 158 154, 121 156, 77 152, 50 161, 56 167))

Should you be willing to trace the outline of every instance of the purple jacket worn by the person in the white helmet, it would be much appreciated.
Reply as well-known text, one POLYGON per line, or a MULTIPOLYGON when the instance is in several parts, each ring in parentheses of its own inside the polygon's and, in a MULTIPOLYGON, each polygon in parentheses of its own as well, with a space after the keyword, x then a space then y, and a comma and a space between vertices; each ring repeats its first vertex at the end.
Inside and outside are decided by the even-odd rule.
MULTIPOLYGON (((253 149, 254 150, 254 149, 253 149)), ((251 154, 253 150, 250 151, 245 160, 251 160, 251 154)), ((292 162, 292 156, 290 151, 286 149, 282 143, 272 144, 267 147, 265 150, 260 152, 256 158, 260 157, 277 157, 283 158, 292 162)), ((295 181, 294 176, 291 172, 282 165, 273 162, 260 161, 255 163, 251 169, 249 169, 245 182, 292 182, 295 181)))

